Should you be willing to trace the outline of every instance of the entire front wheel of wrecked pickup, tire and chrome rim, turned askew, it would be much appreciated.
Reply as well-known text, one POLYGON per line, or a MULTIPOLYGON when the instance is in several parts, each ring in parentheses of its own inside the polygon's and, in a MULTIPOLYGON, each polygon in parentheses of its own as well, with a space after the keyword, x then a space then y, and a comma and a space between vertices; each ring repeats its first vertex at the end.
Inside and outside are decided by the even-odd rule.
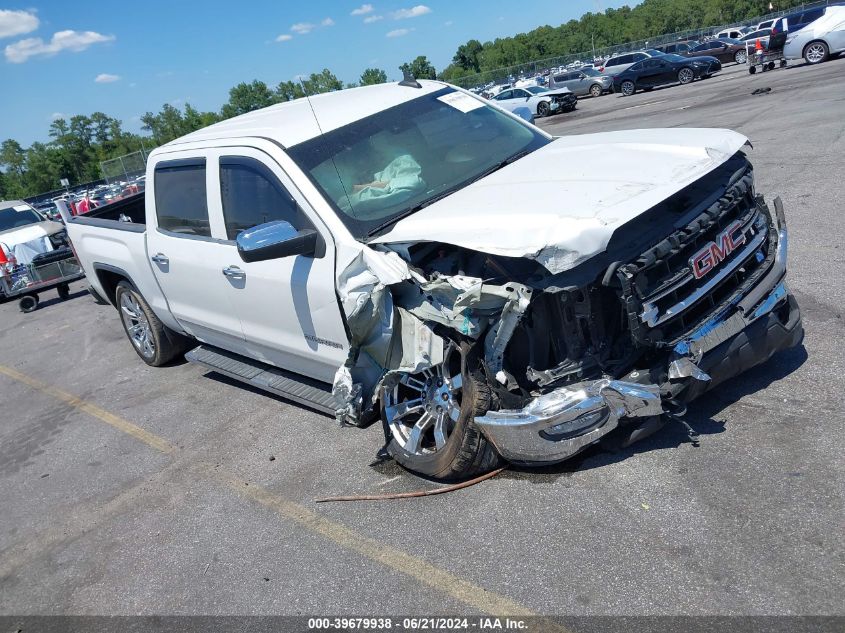
POLYGON ((501 461, 473 419, 490 407, 490 390, 468 373, 455 344, 441 365, 404 374, 385 386, 382 419, 393 458, 408 470, 436 479, 467 479, 501 461))

